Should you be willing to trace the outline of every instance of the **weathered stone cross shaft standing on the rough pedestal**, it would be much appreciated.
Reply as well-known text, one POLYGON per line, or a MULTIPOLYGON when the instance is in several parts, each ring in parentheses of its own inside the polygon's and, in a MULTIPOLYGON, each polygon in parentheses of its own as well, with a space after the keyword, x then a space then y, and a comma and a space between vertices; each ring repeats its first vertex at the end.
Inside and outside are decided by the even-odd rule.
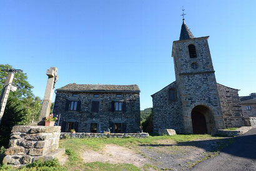
POLYGON ((46 75, 48 76, 48 81, 46 85, 46 92, 44 93, 44 100, 42 102, 39 122, 37 123, 38 125, 44 125, 44 120, 50 114, 52 94, 54 91, 54 86, 58 80, 57 67, 51 67, 50 69, 47 69, 46 75))

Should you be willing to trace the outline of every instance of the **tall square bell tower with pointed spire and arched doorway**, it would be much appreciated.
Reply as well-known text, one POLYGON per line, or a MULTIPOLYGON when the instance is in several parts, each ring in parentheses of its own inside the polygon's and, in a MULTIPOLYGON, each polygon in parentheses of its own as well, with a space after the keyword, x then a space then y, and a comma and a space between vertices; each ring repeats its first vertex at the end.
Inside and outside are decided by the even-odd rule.
POLYGON ((225 128, 208 39, 194 37, 183 18, 180 39, 172 45, 186 133, 210 134, 225 128))

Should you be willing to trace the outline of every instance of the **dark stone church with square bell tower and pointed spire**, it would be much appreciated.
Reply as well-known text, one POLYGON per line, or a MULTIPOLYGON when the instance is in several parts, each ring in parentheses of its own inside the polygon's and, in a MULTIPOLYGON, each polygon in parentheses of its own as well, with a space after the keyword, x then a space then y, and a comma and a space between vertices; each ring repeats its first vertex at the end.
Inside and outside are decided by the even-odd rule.
POLYGON ((239 90, 216 82, 208 39, 194 37, 183 19, 172 44, 176 81, 151 95, 154 132, 211 134, 244 125, 239 90))

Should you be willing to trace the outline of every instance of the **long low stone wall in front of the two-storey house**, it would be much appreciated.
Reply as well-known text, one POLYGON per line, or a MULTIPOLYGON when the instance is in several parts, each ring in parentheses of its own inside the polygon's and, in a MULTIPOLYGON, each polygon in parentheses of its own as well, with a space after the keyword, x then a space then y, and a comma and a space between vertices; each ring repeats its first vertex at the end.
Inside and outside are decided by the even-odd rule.
POLYGON ((70 132, 61 132, 61 139, 66 138, 126 138, 126 137, 135 137, 135 138, 145 138, 149 137, 147 133, 111 133, 111 134, 103 134, 103 133, 70 133, 70 132))

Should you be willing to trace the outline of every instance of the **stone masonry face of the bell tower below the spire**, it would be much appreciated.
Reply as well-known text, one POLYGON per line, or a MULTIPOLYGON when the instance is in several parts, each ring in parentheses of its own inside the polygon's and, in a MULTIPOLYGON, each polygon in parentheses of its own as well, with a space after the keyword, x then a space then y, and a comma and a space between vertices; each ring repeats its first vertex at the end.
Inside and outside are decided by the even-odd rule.
POLYGON ((212 130, 225 127, 207 39, 208 37, 199 37, 174 42, 175 76, 182 103, 184 129, 187 133, 193 133, 191 112, 197 105, 210 110, 212 130), (197 57, 190 58, 190 44, 194 44, 197 57), (192 64, 197 67, 193 68, 192 64))

